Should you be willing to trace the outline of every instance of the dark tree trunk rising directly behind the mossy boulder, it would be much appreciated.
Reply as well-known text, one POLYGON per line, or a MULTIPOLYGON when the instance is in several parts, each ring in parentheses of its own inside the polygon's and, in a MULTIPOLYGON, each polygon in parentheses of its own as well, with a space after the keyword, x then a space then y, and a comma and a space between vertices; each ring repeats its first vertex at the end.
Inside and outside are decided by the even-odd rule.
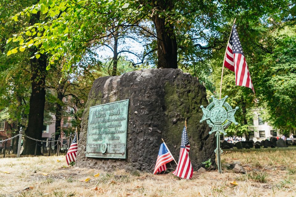
MULTIPOLYGON (((153 1, 159 10, 172 10, 174 8, 171 1, 153 1)), ((165 18, 158 14, 152 16, 157 34, 157 68, 178 68, 178 45, 172 24, 165 24, 165 18)))

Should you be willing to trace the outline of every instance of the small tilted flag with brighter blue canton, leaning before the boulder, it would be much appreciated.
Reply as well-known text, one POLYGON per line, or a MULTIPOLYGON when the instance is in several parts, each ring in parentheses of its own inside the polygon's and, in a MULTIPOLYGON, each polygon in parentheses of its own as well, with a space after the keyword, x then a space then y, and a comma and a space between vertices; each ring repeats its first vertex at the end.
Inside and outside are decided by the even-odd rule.
POLYGON ((167 169, 167 163, 173 161, 173 155, 167 149, 166 145, 162 143, 160 145, 158 156, 154 168, 153 174, 155 175, 158 172, 162 172, 167 169))

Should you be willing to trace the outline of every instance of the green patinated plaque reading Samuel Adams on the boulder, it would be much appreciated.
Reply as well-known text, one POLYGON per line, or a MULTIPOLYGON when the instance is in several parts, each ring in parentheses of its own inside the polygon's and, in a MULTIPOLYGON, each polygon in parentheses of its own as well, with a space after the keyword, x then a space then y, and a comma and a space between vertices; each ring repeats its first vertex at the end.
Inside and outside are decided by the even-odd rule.
POLYGON ((86 157, 126 159, 129 100, 89 108, 86 157))

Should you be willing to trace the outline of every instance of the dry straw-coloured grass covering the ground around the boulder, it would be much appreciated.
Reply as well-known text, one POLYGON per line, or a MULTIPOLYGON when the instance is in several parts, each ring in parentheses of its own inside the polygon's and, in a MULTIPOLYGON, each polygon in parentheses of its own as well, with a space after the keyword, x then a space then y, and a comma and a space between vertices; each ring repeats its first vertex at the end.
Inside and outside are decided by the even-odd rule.
POLYGON ((226 152, 222 160, 241 161, 252 170, 246 175, 227 169, 223 174, 194 172, 192 180, 179 180, 172 174, 65 167, 64 156, 2 158, 0 196, 296 196, 296 148, 226 152), (90 180, 81 181, 86 178, 90 180), (230 184, 234 180, 237 186, 230 184))

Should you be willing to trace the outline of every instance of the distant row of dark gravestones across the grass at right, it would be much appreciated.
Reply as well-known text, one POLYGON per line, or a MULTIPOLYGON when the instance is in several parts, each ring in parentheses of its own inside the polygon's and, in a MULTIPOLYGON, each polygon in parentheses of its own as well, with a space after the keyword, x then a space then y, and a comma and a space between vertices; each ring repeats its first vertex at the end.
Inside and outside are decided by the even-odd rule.
POLYGON ((237 142, 237 143, 228 143, 227 141, 223 141, 221 143, 221 148, 222 149, 230 149, 233 147, 236 147, 237 149, 242 149, 242 148, 253 148, 255 146, 255 148, 260 148, 260 147, 271 147, 271 148, 284 148, 284 147, 288 147, 290 145, 296 146, 296 142, 293 142, 293 144, 287 144, 287 142, 281 138, 277 139, 275 137, 270 138, 270 140, 262 140, 261 142, 257 141, 255 144, 253 142, 253 140, 250 141, 242 141, 242 142, 237 142))

